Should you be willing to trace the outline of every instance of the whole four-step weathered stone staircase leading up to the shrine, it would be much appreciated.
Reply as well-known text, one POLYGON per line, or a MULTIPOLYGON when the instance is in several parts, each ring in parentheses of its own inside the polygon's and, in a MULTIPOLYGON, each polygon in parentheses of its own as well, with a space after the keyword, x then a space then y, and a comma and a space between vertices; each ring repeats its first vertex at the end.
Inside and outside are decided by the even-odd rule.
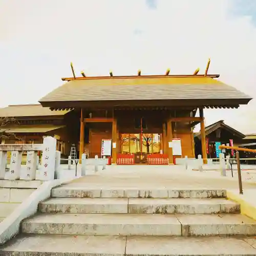
POLYGON ((65 185, 0 255, 256 255, 256 221, 225 190, 65 185))

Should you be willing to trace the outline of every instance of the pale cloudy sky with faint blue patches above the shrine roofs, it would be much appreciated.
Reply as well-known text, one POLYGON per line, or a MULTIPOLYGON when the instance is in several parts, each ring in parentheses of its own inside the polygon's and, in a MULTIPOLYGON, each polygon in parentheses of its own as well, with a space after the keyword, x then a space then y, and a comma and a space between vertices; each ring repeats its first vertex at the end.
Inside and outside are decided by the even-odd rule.
MULTIPOLYGON (((220 74, 256 98, 255 0, 0 0, 0 107, 36 103, 72 76, 220 74)), ((256 133, 256 100, 206 110, 256 133)))

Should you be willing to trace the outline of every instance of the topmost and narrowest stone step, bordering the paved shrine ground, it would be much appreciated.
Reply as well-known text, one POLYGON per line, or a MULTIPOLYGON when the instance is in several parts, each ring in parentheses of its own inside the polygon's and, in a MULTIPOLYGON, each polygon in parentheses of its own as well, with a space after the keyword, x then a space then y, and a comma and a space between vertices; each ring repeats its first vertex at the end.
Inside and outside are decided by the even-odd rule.
POLYGON ((52 197, 78 198, 226 198, 222 189, 139 189, 139 188, 88 188, 70 184, 52 189, 52 197))

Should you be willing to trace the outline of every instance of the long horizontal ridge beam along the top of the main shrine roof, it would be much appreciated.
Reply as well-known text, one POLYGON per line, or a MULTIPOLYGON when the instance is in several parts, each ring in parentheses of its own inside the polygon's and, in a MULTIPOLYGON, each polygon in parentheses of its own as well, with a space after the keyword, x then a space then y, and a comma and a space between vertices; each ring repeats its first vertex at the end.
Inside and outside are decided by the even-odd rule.
MULTIPOLYGON (((112 73, 113 75, 113 73, 112 73)), ((118 78, 138 78, 138 76, 113 76, 112 78, 118 79, 118 78)), ((140 77, 205 77, 205 75, 141 75, 140 77)), ((207 74, 206 77, 210 78, 219 78, 220 74, 207 74)), ((72 81, 72 80, 86 80, 86 79, 110 79, 109 76, 87 76, 87 77, 62 77, 62 81, 72 81)))

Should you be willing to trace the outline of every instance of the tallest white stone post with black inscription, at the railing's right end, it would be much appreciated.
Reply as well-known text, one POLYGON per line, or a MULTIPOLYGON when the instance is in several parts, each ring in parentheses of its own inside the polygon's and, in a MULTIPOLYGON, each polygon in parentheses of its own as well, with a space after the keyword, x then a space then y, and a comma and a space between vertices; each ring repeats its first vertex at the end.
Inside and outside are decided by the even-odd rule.
POLYGON ((56 139, 53 137, 44 138, 42 147, 41 180, 54 180, 56 158, 56 139))

